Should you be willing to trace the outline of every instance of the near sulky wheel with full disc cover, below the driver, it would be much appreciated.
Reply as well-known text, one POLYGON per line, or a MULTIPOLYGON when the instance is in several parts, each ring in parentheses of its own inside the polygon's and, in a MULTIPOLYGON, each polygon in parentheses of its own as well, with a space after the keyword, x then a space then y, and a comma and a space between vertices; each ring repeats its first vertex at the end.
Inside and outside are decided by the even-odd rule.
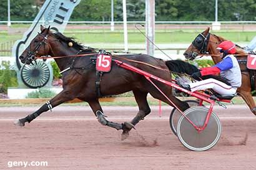
MULTIPOLYGON (((184 114, 197 126, 203 126, 209 108, 204 106, 193 106, 184 114)), ((195 130, 184 116, 180 116, 177 125, 177 135, 180 142, 192 151, 205 151, 212 148, 220 139, 222 126, 214 112, 210 116, 209 123, 200 133, 195 130)))

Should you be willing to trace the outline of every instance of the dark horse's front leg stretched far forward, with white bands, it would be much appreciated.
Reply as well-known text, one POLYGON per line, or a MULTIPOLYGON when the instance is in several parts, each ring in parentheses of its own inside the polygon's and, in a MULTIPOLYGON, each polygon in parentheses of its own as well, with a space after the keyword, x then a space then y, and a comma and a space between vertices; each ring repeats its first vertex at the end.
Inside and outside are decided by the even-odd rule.
POLYGON ((69 90, 62 90, 61 93, 57 94, 54 98, 46 102, 44 105, 39 108, 39 110, 35 111, 31 115, 27 115, 25 118, 21 118, 17 121, 14 121, 14 124, 17 126, 25 126, 25 123, 30 123, 37 116, 41 115, 41 113, 51 110, 57 105, 61 103, 67 102, 69 100, 73 100, 75 97, 69 90))

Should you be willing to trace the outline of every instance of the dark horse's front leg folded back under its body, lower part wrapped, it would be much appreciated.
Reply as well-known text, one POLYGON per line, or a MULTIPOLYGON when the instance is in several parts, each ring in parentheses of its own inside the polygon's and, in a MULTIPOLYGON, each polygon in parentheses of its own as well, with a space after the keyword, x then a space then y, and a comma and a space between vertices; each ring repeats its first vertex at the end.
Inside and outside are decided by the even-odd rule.
POLYGON ((92 100, 92 101, 89 101, 88 103, 91 106, 92 111, 96 115, 97 120, 99 121, 99 123, 101 123, 101 125, 109 126, 111 128, 115 128, 116 130, 123 129, 124 125, 122 125, 121 123, 116 123, 116 122, 106 120, 105 115, 102 111, 101 105, 99 104, 99 100, 92 100))

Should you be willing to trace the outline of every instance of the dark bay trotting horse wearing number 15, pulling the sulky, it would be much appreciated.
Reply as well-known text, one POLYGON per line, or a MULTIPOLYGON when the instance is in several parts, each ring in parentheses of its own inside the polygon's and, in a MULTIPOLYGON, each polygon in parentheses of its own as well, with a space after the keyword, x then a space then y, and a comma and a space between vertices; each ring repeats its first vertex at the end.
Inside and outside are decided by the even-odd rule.
MULTIPOLYGON (((101 94, 117 95, 124 92, 132 91, 135 101, 139 106, 139 112, 130 121, 125 123, 115 123, 106 120, 104 112, 99 103, 99 96, 96 93, 96 65, 93 64, 91 57, 96 57, 97 52, 94 49, 84 49, 84 46, 77 44, 73 39, 65 37, 61 33, 53 33, 49 28, 41 26, 41 33, 36 35, 31 41, 31 44, 21 54, 19 59, 23 64, 31 64, 37 57, 51 55, 62 56, 56 58, 57 65, 60 70, 65 70, 68 67, 71 69, 62 73, 63 90, 56 97, 39 108, 31 115, 27 115, 15 122, 16 125, 24 126, 26 122, 30 123, 41 113, 48 111, 61 103, 79 98, 88 102, 92 111, 97 116, 97 119, 102 125, 123 130, 122 139, 129 135, 129 131, 140 120, 150 113, 150 107, 147 103, 147 94, 161 100, 172 106, 172 103, 167 100, 144 76, 138 73, 131 72, 119 67, 115 62, 112 62, 111 72, 104 73, 101 77, 101 94), (87 54, 84 57, 63 57, 68 55, 87 54)), ((115 55, 112 55, 115 58, 115 55)), ((152 73, 164 80, 171 81, 170 72, 165 62, 145 54, 118 55, 118 60, 126 62, 134 67, 137 67, 145 72, 152 73)), ((172 101, 180 110, 184 111, 189 108, 187 103, 180 101, 172 95, 172 89, 163 83, 152 80, 162 92, 172 101)))

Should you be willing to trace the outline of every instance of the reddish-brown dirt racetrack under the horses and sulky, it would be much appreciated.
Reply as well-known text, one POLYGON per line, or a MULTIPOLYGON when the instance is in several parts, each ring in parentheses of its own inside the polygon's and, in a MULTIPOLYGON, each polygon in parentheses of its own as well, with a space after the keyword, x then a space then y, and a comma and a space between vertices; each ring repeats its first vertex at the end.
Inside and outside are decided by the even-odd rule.
MULTIPOLYGON (((100 125, 87 106, 59 106, 25 127, 13 125, 37 107, 0 108, 0 169, 256 169, 256 116, 247 106, 215 105, 222 136, 214 148, 189 151, 169 128, 170 107, 157 107, 125 141, 121 131, 100 125), (47 161, 47 166, 14 166, 47 161)), ((108 120, 131 120, 137 107, 104 106, 108 120)))

